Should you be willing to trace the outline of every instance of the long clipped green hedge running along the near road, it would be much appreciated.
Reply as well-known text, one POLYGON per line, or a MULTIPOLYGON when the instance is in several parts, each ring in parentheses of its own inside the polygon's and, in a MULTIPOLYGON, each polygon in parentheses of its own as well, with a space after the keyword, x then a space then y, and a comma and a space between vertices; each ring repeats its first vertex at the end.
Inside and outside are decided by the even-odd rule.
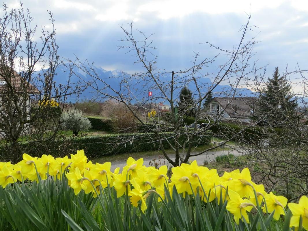
MULTIPOLYGON (((58 141, 57 146, 59 148, 49 149, 48 154, 55 157, 65 156, 70 153, 75 153, 77 150, 83 149, 87 154, 87 157, 91 160, 100 156, 110 156, 120 153, 130 153, 130 152, 142 152, 142 151, 155 151, 159 150, 160 140, 164 145, 164 148, 170 148, 170 144, 175 144, 174 136, 176 134, 173 132, 164 133, 125 133, 125 134, 107 134, 99 136, 84 136, 71 140, 71 142, 66 142, 65 144, 58 141), (167 141, 168 139, 168 141, 167 141)), ((212 137, 211 132, 204 132, 201 139, 193 142, 194 146, 209 144, 212 137)), ((184 144, 186 140, 186 135, 181 134, 179 138, 179 143, 184 144)), ((22 143, 21 146, 26 148, 28 144, 22 143)), ((46 146, 42 143, 33 144, 33 153, 28 154, 37 156, 40 153, 45 154, 46 146)), ((21 147, 21 149, 23 149, 21 147)), ((4 152, 4 147, 0 147, 0 155, 4 152)))

